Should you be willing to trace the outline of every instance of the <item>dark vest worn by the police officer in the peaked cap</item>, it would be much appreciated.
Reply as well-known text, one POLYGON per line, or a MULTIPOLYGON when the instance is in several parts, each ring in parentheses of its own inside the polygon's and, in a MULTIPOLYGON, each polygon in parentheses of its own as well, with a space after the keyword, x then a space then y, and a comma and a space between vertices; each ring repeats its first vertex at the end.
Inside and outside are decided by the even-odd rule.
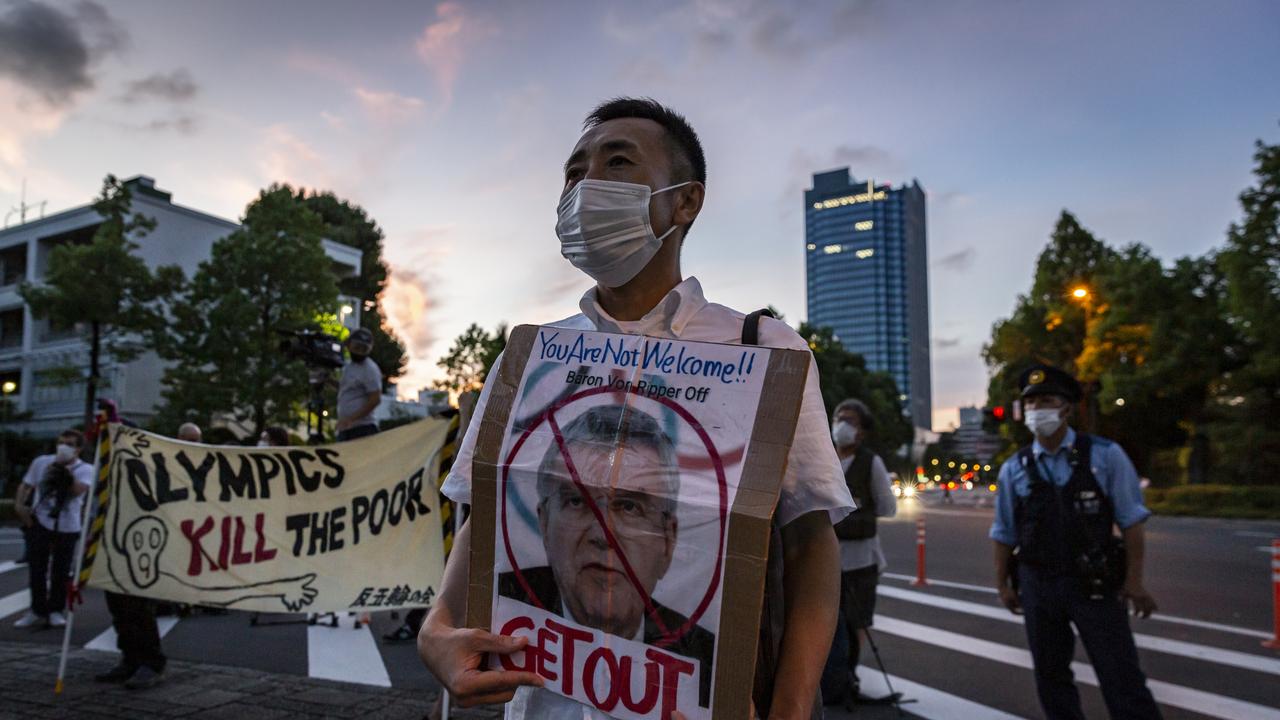
POLYGON ((1094 600, 1114 597, 1124 582, 1124 543, 1115 536, 1115 509, 1091 466, 1093 438, 1078 434, 1071 477, 1059 487, 1044 478, 1030 446, 1018 452, 1028 493, 1014 505, 1018 562, 1044 577, 1074 577, 1094 600))

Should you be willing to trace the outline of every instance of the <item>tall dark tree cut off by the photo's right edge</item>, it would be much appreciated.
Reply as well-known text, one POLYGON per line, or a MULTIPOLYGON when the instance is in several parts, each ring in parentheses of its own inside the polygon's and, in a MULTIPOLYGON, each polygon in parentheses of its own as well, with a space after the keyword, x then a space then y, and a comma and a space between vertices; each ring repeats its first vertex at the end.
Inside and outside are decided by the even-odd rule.
POLYGON ((1213 436, 1222 475, 1276 483, 1280 470, 1280 145, 1257 143, 1257 183, 1240 193, 1244 218, 1219 254, 1224 311, 1238 342, 1217 388, 1213 436))

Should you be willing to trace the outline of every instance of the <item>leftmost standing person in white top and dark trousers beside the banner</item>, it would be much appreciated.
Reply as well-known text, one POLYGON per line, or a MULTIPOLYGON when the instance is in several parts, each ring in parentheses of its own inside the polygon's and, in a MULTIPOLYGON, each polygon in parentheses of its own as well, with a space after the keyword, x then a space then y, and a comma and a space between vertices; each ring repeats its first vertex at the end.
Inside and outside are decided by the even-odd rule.
POLYGON ((23 527, 31 529, 31 609, 14 628, 67 625, 67 579, 84 498, 93 487, 93 466, 79 459, 83 448, 84 436, 79 430, 63 430, 56 450, 36 457, 22 478, 14 510, 23 527))

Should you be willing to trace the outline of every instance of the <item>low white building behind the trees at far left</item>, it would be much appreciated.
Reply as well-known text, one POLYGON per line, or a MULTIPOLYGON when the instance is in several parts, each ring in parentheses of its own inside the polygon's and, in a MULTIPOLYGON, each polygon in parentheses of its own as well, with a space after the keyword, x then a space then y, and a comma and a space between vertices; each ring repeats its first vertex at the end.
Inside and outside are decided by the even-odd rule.
MULTIPOLYGON (((214 242, 239 228, 230 220, 175 205, 170 193, 156 188, 146 176, 129 178, 125 184, 133 192, 133 211, 156 220, 155 229, 136 241, 138 256, 152 269, 178 265, 189 278, 210 258, 214 242)), ((8 391, 4 395, 18 411, 33 414, 29 420, 8 424, 10 429, 52 436, 83 418, 84 382, 65 384, 58 369, 79 368, 87 377, 88 342, 76 328, 51 328, 47 320, 32 318, 18 286, 24 281, 40 283, 50 251, 61 243, 90 241, 101 220, 88 204, 0 231, 0 389, 8 391)), ((360 273, 358 249, 325 240, 324 250, 339 278, 360 273)), ((340 299, 334 313, 347 327, 360 323, 360 302, 352 299, 340 299)), ((163 372, 164 364, 154 352, 131 363, 114 363, 104 355, 99 397, 115 400, 124 416, 145 423, 160 404, 163 372)))

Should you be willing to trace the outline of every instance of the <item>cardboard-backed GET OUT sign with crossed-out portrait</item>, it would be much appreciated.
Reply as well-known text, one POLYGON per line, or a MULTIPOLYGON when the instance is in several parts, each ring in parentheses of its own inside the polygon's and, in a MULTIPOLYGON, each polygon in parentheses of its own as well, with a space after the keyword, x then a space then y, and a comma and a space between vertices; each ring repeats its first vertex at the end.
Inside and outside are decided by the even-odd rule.
POLYGON ((746 717, 808 354, 516 328, 480 418, 467 625, 529 717, 746 717))

